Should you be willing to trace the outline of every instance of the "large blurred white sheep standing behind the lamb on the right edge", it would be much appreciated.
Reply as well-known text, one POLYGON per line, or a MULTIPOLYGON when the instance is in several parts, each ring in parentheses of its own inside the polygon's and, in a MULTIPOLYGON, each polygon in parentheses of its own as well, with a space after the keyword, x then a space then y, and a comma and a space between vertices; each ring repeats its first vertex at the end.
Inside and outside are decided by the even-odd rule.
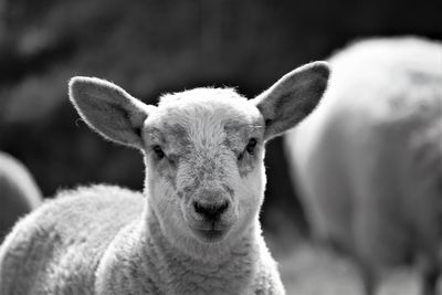
POLYGON ((319 106, 284 138, 313 233, 356 260, 367 294, 387 271, 410 263, 419 264, 422 294, 435 294, 442 44, 366 40, 329 64, 319 106))

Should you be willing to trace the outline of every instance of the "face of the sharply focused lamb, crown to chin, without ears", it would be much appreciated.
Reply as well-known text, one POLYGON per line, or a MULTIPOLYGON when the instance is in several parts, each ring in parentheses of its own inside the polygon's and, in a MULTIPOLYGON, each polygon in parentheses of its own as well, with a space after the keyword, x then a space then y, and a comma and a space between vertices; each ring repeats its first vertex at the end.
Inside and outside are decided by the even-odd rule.
POLYGON ((232 89, 162 97, 143 136, 146 188, 167 232, 211 243, 253 223, 265 185, 263 126, 232 89))

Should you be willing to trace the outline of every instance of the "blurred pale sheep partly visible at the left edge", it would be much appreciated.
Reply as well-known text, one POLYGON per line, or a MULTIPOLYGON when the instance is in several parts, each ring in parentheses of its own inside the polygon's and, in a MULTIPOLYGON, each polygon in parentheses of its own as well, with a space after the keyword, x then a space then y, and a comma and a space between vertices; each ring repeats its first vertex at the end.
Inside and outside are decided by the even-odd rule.
POLYGON ((21 215, 35 209, 42 194, 27 167, 0 152, 0 243, 21 215))

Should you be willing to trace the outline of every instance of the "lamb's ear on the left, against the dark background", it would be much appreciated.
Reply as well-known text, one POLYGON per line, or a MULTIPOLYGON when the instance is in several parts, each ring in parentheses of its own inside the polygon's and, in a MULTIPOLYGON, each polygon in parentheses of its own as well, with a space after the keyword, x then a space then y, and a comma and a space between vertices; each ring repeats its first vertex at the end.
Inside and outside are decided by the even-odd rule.
POLYGON ((80 116, 113 141, 143 148, 141 128, 154 106, 130 96, 117 85, 95 77, 73 77, 69 94, 80 116))

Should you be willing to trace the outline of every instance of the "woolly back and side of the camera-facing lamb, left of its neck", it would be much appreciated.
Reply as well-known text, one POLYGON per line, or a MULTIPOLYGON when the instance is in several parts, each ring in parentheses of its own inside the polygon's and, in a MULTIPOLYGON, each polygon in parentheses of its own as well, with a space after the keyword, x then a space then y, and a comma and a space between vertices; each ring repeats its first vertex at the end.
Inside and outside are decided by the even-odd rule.
POLYGON ((59 193, 23 218, 7 238, 0 251, 0 283, 7 288, 2 291, 91 294, 104 250, 141 213, 143 204, 140 193, 118 187, 59 193))

